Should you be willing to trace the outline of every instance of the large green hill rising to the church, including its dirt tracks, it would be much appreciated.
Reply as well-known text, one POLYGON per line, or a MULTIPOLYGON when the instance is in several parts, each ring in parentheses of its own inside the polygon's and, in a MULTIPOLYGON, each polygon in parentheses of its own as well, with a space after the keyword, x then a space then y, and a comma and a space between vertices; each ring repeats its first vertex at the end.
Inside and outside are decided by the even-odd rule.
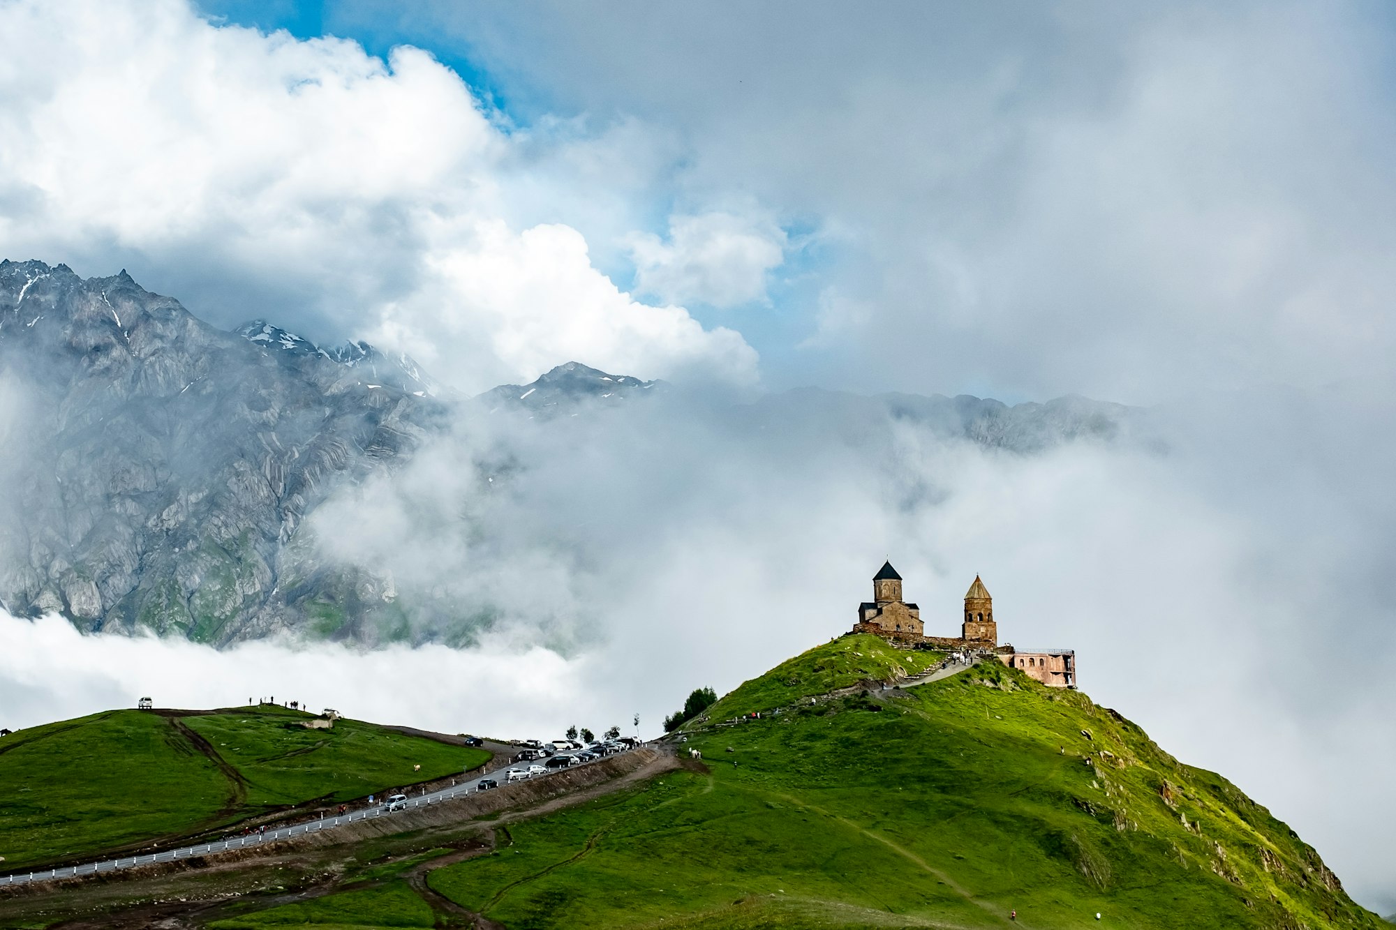
POLYGON ((723 697, 670 754, 599 762, 609 781, 505 786, 216 880, 60 884, 46 905, 0 890, 0 926, 98 908, 107 923, 64 926, 148 926, 112 915, 154 924, 177 895, 205 903, 169 926, 219 930, 1388 926, 1269 811, 1079 691, 993 660, 896 687, 937 662, 843 637, 723 697))

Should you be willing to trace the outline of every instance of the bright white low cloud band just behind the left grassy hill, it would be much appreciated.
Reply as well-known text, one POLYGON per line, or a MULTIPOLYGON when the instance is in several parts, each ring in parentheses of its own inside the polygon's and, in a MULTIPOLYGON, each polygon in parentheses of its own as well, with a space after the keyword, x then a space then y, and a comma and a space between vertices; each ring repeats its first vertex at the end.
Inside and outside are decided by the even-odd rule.
POLYGON ((302 701, 380 723, 504 739, 561 732, 568 715, 603 719, 585 697, 586 662, 539 648, 359 652, 261 641, 221 652, 183 640, 84 635, 63 617, 31 621, 4 612, 0 640, 7 644, 0 652, 0 725, 10 729, 135 707, 141 697, 174 708, 302 701))

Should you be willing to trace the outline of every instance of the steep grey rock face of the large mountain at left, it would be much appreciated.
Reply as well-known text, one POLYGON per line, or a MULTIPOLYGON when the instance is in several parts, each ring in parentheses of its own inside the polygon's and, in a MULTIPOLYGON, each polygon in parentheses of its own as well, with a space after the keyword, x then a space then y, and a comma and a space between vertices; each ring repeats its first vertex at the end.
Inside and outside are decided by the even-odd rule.
POLYGON ((279 337, 215 330, 124 271, 0 263, 4 606, 208 642, 295 623, 272 595, 302 519, 438 405, 364 378, 367 346, 346 364, 279 337))

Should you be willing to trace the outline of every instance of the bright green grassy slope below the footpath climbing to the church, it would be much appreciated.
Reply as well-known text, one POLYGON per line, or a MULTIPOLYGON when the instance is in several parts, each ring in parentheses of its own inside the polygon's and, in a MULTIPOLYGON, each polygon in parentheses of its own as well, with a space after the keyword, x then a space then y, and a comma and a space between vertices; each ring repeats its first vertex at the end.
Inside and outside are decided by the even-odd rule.
MULTIPOLYGON (((829 669, 847 645, 772 676, 829 669)), ((979 927, 1013 909, 1032 927, 1383 926, 1228 782, 998 663, 687 747, 708 772, 511 827, 431 888, 511 930, 979 927)))

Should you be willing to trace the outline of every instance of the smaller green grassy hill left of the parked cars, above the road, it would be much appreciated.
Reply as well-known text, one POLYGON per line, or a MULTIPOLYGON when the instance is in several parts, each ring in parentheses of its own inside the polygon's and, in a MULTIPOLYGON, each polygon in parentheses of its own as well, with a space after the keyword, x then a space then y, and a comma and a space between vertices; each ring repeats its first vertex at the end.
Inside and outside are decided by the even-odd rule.
POLYGON ((0 739, 3 869, 95 857, 313 800, 348 802, 490 758, 357 721, 296 726, 310 716, 269 705, 109 711, 0 739))

